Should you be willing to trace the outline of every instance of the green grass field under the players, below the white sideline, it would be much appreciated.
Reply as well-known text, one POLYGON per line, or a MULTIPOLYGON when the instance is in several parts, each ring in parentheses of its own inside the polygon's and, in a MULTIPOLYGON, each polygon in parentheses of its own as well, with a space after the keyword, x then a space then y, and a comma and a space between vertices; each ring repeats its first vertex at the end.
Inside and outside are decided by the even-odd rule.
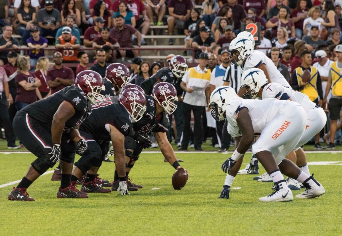
MULTIPOLYGON (((228 154, 230 155, 230 154, 228 154)), ((7 200, 14 186, 0 188, 1 235, 341 235, 342 154, 310 153, 310 171, 326 194, 314 199, 265 203, 271 183, 258 183, 253 175, 238 175, 231 199, 217 199, 227 155, 177 154, 189 172, 182 190, 174 190, 174 169, 159 153, 143 153, 130 177, 143 189, 121 196, 118 192, 89 194, 88 199, 57 199, 59 183, 51 173, 41 176, 28 192, 32 202, 7 200), (153 190, 152 188, 159 188, 153 190)), ((248 154, 248 156, 250 156, 248 154)), ((0 185, 21 179, 32 154, 0 153, 0 185)), ((244 162, 248 162, 245 160, 244 162)), ((244 166, 245 167, 245 166, 244 166)), ((263 173, 260 169, 260 174, 263 173)), ((100 177, 113 180, 114 163, 103 163, 100 177)), ((292 191, 293 195, 301 191, 292 191)))

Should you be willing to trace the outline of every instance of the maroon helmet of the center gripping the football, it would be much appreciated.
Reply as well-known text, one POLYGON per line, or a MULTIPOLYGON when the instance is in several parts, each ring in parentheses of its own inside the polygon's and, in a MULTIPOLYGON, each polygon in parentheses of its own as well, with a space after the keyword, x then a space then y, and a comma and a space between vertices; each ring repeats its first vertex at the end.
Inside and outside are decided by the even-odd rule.
POLYGON ((171 83, 160 82, 155 84, 152 96, 164 108, 167 114, 171 115, 176 110, 177 105, 174 102, 178 101, 177 90, 171 83))

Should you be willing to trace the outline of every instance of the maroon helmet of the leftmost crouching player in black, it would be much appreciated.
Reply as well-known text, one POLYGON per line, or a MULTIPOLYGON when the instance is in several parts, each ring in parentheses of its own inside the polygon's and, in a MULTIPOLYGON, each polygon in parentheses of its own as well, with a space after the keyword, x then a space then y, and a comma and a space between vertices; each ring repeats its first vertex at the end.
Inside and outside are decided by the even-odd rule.
POLYGON ((78 73, 75 79, 75 85, 86 94, 87 99, 91 103, 95 103, 96 100, 102 101, 105 97, 101 94, 101 91, 105 91, 103 79, 95 71, 83 70, 78 73))

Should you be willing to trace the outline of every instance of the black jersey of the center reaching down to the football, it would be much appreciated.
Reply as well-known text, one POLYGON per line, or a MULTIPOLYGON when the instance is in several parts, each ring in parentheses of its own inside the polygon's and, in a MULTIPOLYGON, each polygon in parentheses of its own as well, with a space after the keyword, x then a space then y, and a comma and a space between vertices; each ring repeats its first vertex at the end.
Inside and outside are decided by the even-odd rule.
POLYGON ((156 115, 156 101, 152 96, 146 97, 146 111, 143 117, 133 123, 133 129, 137 133, 162 132, 165 133, 170 128, 169 116, 166 112, 156 115))

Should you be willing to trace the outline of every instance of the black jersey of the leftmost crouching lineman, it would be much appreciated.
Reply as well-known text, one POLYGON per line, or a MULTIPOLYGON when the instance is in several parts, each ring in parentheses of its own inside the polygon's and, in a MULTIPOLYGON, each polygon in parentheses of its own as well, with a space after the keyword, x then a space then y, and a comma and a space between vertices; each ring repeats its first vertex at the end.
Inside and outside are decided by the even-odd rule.
POLYGON ((86 94, 75 85, 68 86, 45 99, 31 103, 22 110, 51 132, 53 116, 63 101, 71 103, 75 109, 75 114, 65 122, 64 130, 76 128, 91 114, 91 104, 88 102, 86 94))

